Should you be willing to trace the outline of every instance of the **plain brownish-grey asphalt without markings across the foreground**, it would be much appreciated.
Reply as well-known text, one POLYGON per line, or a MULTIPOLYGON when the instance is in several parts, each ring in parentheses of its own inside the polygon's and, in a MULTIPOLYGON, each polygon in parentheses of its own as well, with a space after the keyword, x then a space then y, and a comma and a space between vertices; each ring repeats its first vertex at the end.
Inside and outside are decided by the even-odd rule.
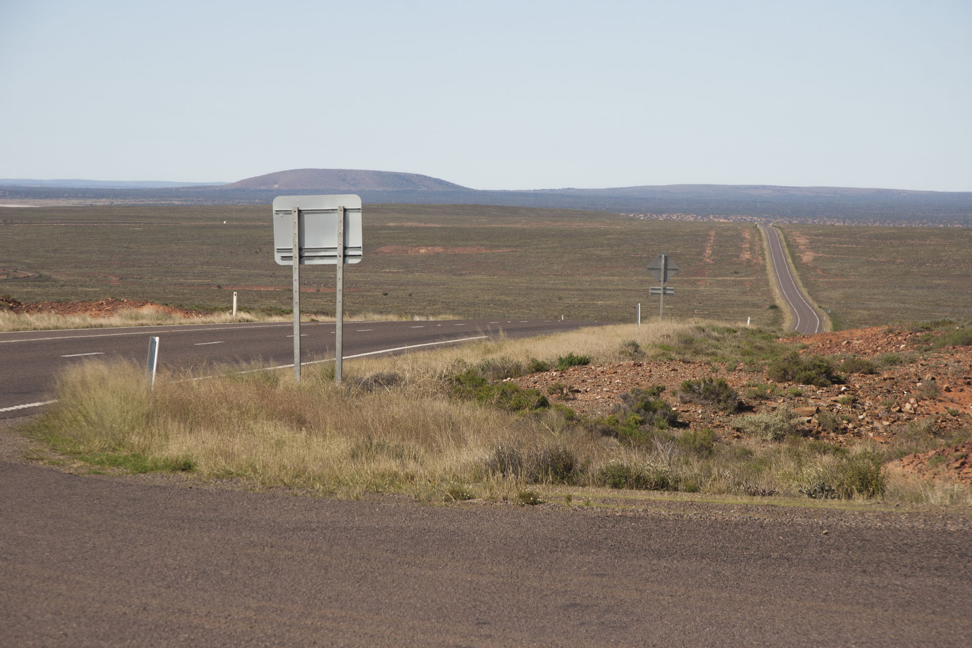
POLYGON ((4 646, 972 645, 972 533, 908 516, 429 507, 11 462, 0 494, 4 646))

